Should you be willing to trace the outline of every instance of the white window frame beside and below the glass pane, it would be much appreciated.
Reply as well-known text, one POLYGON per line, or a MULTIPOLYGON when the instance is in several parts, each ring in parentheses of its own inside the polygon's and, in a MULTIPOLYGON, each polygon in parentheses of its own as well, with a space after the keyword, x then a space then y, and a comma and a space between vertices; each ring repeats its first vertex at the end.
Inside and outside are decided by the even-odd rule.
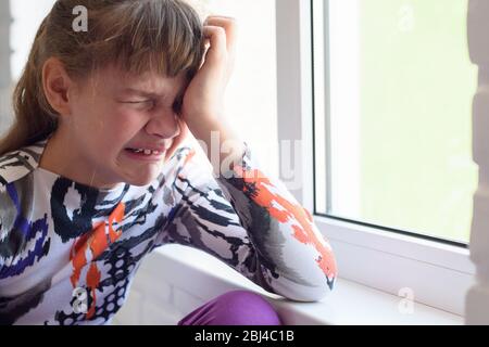
MULTIPOLYGON (((299 141, 293 167, 301 184, 288 187, 313 213, 311 8, 310 0, 276 2, 278 141, 299 141)), ((287 184, 289 177, 279 176, 287 184)), ((467 248, 317 215, 314 220, 334 247, 340 278, 393 295, 411 293, 417 303, 464 316, 475 281, 467 248)))

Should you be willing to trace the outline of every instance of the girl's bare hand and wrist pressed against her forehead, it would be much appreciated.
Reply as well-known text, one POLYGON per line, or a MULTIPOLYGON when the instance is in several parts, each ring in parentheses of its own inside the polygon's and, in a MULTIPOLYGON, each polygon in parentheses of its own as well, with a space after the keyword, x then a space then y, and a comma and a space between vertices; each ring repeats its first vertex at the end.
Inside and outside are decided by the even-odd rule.
POLYGON ((203 64, 189 82, 181 115, 195 134, 209 129, 210 123, 224 117, 224 94, 233 74, 236 55, 237 24, 231 17, 209 16, 203 26, 210 47, 203 64))

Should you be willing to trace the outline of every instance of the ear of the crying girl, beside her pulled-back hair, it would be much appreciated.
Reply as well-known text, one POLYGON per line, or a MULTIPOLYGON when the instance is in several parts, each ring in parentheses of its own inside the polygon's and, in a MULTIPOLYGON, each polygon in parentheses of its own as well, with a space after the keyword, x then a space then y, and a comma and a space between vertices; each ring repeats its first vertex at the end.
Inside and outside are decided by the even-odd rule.
POLYGON ((57 57, 50 57, 42 67, 42 88, 51 107, 61 116, 71 114, 70 88, 73 80, 67 75, 63 64, 57 57))

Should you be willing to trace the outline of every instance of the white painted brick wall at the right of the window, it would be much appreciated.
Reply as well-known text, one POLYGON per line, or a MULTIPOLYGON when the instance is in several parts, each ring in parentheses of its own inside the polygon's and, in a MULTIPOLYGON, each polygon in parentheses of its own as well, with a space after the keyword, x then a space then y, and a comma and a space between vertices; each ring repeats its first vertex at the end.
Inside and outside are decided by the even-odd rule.
POLYGON ((466 323, 489 324, 489 1, 471 0, 468 46, 479 65, 479 87, 473 104, 473 151, 479 165, 479 187, 474 196, 471 258, 477 267, 477 283, 466 297, 466 323))

